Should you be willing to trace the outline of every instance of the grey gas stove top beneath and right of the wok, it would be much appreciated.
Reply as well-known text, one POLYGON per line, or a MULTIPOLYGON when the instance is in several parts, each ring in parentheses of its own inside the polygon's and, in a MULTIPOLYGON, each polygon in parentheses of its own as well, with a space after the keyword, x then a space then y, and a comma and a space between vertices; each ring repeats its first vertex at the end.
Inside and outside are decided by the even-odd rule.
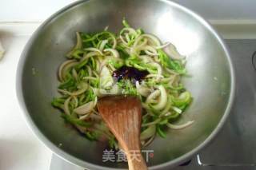
MULTIPOLYGON (((232 39, 226 44, 230 47, 237 88, 230 117, 206 148, 174 170, 256 170, 256 40, 232 39)), ((85 168, 53 154, 50 170, 58 169, 85 168)))

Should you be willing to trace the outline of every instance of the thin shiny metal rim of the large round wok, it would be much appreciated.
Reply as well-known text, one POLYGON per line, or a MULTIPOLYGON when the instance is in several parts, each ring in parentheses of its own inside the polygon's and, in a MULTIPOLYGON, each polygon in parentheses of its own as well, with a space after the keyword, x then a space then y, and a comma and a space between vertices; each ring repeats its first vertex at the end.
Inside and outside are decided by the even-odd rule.
MULTIPOLYGON (((30 117, 30 114, 26 108, 25 101, 24 101, 24 95, 22 91, 22 74, 23 74, 23 68, 26 61, 26 54, 28 53, 30 46, 34 42, 34 40, 37 38, 37 35, 42 31, 42 28, 46 26, 49 22, 54 20, 54 18, 58 18, 58 16, 62 13, 64 13, 66 10, 70 10, 70 8, 73 8, 75 6, 80 5, 81 3, 87 3, 91 0, 84 0, 84 1, 78 1, 70 3, 70 5, 63 7, 61 10, 58 10, 56 13, 52 14, 50 18, 47 18, 45 22, 41 24, 41 26, 38 26, 38 29, 34 31, 34 34, 30 37, 30 40, 26 43, 25 48, 22 51, 22 55, 18 61, 18 69, 16 72, 16 93, 19 101, 19 105, 22 108, 22 113, 24 114, 24 117, 26 119, 26 124, 30 127, 30 130, 34 133, 35 136, 38 137, 38 140, 42 142, 42 144, 46 145, 47 148, 50 148, 52 152, 54 152, 57 156, 61 157, 63 160, 66 160, 70 162, 71 164, 75 164, 78 166, 82 166, 83 168, 91 168, 91 169, 102 169, 102 170, 110 170, 110 169, 117 169, 121 170, 123 168, 108 168, 104 166, 100 166, 97 164, 91 164, 89 162, 86 162, 85 160, 78 159, 75 156, 70 155, 67 152, 62 151, 61 148, 58 148, 53 142, 51 142, 37 127, 37 125, 34 124, 34 121, 30 117)), ((230 97, 228 104, 226 106, 226 110, 221 118, 221 120, 218 122, 218 125, 214 128, 214 130, 210 133, 209 136, 206 137, 206 140, 204 140, 201 144, 198 144, 197 147, 192 149, 190 152, 187 152, 186 154, 179 156, 178 158, 175 158, 174 160, 167 161, 162 164, 154 165, 149 167, 150 169, 159 169, 159 168, 170 168, 174 167, 178 164, 182 164, 182 162, 190 159, 190 157, 194 156, 196 153, 199 152, 202 148, 205 148, 207 144, 210 143, 211 140, 214 139, 215 136, 217 136, 218 132, 221 130, 223 125, 225 124, 229 114, 230 110, 232 108, 232 105, 234 104, 234 94, 235 94, 235 73, 234 73, 234 65, 231 61, 230 57, 230 51, 226 47, 226 43, 223 42, 222 38, 218 35, 218 33, 214 30, 212 26, 204 18, 202 18, 199 14, 196 14, 194 11, 187 9, 184 6, 179 5, 175 2, 170 2, 168 0, 159 0, 160 2, 166 3, 167 6, 174 6, 177 7, 179 10, 182 10, 186 14, 190 14, 192 17, 196 18, 198 22, 201 22, 203 26, 206 26, 206 28, 210 31, 211 34, 214 35, 214 38, 218 40, 218 43, 222 46, 222 49, 224 53, 226 54, 226 59, 228 61, 229 69, 230 69, 230 97)))

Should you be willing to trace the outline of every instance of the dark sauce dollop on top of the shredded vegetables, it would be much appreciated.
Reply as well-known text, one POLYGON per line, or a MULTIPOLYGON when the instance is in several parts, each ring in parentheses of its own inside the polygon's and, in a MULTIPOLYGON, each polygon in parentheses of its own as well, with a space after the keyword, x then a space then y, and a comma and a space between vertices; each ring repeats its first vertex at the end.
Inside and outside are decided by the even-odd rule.
POLYGON ((149 74, 147 70, 139 70, 134 67, 128 67, 126 65, 115 70, 113 72, 113 77, 117 78, 118 81, 122 79, 130 79, 130 81, 141 81, 146 75, 149 74))

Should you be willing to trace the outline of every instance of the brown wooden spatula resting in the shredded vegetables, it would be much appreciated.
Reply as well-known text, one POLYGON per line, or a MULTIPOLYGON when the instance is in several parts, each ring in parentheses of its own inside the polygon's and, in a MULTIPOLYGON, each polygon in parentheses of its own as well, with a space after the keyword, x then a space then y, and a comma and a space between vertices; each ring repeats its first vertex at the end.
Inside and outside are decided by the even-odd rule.
POLYGON ((98 101, 98 111, 126 153, 130 170, 146 170, 140 147, 142 105, 137 97, 111 96, 98 101))

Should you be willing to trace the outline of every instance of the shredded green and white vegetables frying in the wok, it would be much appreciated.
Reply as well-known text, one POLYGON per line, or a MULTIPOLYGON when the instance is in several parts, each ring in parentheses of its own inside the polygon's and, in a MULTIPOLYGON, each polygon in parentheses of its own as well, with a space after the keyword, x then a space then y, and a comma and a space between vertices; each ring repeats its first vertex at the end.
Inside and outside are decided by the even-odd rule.
POLYGON ((97 34, 76 33, 77 43, 58 69, 61 97, 54 97, 52 105, 89 140, 105 139, 110 147, 118 148, 98 113, 97 101, 106 95, 138 96, 143 108, 140 138, 146 146, 156 135, 166 137, 167 128, 186 128, 194 122, 174 122, 192 101, 180 81, 186 74, 186 58, 170 42, 135 30, 126 20, 122 24, 118 34, 107 29, 97 34), (143 71, 142 79, 113 76, 124 67, 143 71))

